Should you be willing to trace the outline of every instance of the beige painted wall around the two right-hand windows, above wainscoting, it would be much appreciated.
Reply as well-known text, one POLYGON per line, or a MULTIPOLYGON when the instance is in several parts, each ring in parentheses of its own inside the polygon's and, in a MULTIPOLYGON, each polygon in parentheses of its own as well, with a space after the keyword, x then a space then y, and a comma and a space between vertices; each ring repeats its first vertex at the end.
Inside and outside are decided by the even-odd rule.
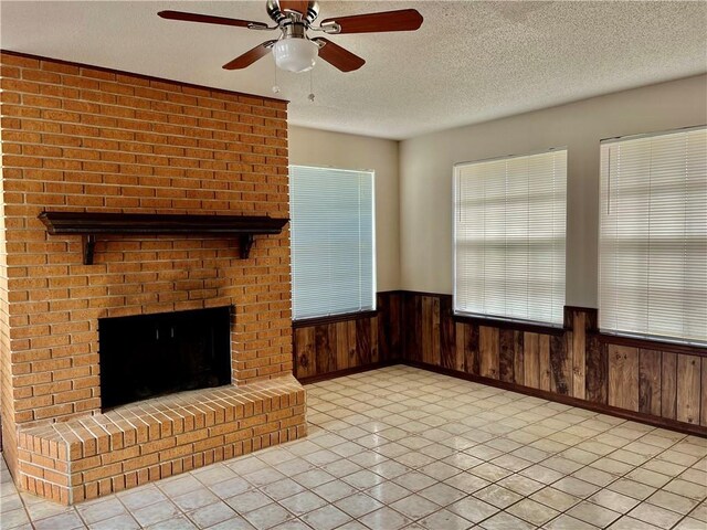
POLYGON ((700 75, 402 141, 401 288, 452 293, 454 163, 567 146, 567 305, 597 307, 600 140, 703 125, 706 95, 700 75))

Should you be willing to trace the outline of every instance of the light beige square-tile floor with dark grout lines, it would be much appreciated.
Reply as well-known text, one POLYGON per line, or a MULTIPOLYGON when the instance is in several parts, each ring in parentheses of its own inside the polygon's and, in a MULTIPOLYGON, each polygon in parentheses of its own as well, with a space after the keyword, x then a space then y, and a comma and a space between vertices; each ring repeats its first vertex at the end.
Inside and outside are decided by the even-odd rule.
POLYGON ((707 441, 407 367, 307 386, 306 439, 3 530, 707 529, 707 441))

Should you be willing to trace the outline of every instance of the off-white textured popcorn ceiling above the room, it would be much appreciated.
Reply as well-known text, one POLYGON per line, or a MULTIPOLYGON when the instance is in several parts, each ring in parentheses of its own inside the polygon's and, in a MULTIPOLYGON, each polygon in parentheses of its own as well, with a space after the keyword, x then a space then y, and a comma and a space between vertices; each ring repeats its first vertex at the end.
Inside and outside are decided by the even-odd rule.
MULTIPOLYGON (((416 32, 334 35, 367 60, 277 73, 292 124, 403 139, 707 71, 707 2, 325 1, 319 19, 413 7, 416 32)), ((7 1, 4 50, 273 96, 271 56, 221 65, 275 33, 167 21, 177 9, 268 22, 265 0, 7 1)))

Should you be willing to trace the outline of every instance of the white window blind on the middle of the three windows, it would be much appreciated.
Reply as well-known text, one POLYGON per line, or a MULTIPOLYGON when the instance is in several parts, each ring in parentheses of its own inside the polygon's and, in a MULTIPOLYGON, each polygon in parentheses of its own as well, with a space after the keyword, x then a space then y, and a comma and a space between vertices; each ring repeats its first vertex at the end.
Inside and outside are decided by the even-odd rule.
POLYGON ((454 173, 455 312, 562 325, 567 150, 454 173))

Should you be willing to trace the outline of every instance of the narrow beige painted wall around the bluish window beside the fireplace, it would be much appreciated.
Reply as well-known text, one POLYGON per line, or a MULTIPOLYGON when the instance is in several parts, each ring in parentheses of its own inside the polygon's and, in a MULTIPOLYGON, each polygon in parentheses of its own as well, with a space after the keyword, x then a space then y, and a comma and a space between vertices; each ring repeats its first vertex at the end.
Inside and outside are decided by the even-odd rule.
POLYGON ((376 171, 377 289, 400 288, 398 141, 289 126, 289 163, 376 171))

